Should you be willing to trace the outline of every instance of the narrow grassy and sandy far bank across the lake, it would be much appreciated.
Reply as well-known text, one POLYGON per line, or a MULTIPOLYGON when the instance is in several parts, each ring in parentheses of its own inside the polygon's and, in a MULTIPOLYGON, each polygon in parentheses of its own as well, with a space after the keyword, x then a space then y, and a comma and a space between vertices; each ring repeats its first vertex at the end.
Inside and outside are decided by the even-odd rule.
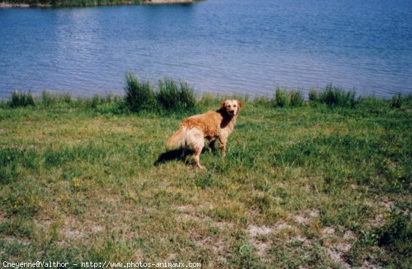
POLYGON ((93 1, 90 4, 84 5, 65 5, 65 1, 62 1, 60 5, 50 5, 46 3, 36 3, 30 5, 29 3, 10 3, 0 2, 0 8, 56 8, 56 7, 70 7, 70 6, 98 6, 98 5, 161 5, 161 4, 183 4, 183 3, 196 3, 201 0, 142 0, 136 1, 119 1, 117 3, 103 3, 100 4, 97 1, 93 1))

